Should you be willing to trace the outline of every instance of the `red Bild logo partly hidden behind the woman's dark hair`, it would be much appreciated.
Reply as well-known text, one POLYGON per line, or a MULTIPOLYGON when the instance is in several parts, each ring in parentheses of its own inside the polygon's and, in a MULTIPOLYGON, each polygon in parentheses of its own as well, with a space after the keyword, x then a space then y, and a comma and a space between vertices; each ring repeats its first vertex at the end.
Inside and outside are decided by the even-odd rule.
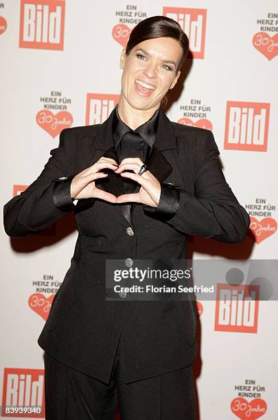
POLYGON ((204 58, 207 10, 188 8, 163 8, 163 16, 178 22, 189 39, 189 49, 194 58, 204 58))

